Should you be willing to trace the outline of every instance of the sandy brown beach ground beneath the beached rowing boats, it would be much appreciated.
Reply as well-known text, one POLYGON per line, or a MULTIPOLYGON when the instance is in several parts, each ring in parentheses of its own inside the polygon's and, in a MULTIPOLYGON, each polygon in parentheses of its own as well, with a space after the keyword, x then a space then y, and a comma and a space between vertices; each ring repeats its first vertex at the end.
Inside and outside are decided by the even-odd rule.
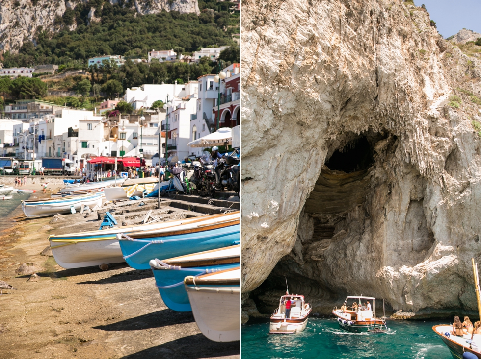
POLYGON ((210 341, 191 312, 168 309, 150 270, 125 263, 107 271, 63 269, 40 255, 48 235, 98 229, 97 218, 75 214, 49 223, 52 217, 30 219, 18 209, 12 215, 13 226, 0 233, 0 280, 17 290, 0 296, 0 359, 239 358, 239 342, 210 341), (46 271, 27 282, 29 275, 15 273, 21 263, 46 271))

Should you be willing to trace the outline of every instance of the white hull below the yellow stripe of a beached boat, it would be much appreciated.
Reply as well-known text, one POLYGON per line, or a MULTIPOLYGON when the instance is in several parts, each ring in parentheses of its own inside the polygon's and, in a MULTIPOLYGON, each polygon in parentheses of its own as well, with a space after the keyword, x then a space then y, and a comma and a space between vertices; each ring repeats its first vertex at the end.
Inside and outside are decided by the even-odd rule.
POLYGON ((117 239, 52 241, 53 258, 62 268, 83 268, 125 262, 117 239))

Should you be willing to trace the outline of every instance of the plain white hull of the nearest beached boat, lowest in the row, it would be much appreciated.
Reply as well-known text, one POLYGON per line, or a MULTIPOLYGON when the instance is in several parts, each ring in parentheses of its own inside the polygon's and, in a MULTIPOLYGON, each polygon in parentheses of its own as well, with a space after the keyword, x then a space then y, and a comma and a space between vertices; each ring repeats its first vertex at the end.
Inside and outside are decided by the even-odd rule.
POLYGON ((239 340, 240 287, 185 285, 195 322, 203 335, 217 342, 239 340))

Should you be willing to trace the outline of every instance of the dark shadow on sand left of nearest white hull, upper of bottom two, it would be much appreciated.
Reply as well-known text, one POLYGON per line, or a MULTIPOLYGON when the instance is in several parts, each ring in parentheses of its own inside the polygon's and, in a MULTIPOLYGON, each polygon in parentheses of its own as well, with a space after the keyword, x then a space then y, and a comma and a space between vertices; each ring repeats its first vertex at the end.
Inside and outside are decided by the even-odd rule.
POLYGON ((94 329, 111 331, 130 331, 168 327, 170 325, 186 324, 195 322, 191 311, 173 311, 162 309, 152 313, 139 315, 134 318, 121 320, 116 323, 99 325, 94 329))

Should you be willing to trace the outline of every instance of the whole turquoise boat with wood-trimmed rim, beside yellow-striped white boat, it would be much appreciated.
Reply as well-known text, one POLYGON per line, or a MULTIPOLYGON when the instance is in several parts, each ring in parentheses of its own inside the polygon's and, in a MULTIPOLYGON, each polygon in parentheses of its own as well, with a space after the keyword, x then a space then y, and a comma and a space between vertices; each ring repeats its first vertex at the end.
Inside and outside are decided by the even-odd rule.
POLYGON ((239 244, 240 219, 207 224, 189 223, 172 229, 144 231, 129 235, 120 233, 117 239, 125 261, 135 269, 150 269, 150 260, 184 256, 186 254, 239 244))

